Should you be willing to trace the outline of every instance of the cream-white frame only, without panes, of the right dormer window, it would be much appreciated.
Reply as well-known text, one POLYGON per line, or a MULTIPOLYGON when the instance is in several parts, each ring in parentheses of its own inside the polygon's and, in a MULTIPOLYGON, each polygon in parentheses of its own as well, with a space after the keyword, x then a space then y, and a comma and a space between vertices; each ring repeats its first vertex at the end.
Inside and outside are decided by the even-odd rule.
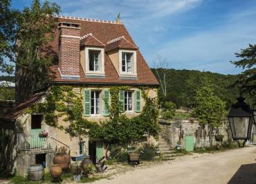
POLYGON ((137 53, 136 50, 119 50, 119 75, 120 77, 137 77, 137 53), (122 53, 132 53, 131 72, 122 71, 122 53))

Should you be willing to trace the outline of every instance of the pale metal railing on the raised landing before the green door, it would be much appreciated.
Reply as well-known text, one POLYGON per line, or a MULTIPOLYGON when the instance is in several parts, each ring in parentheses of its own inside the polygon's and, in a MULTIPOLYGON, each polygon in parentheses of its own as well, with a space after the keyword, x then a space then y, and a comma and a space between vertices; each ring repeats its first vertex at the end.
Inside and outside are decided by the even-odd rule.
POLYGON ((39 134, 17 134, 18 150, 55 149, 56 145, 56 134, 48 134, 46 138, 39 134))

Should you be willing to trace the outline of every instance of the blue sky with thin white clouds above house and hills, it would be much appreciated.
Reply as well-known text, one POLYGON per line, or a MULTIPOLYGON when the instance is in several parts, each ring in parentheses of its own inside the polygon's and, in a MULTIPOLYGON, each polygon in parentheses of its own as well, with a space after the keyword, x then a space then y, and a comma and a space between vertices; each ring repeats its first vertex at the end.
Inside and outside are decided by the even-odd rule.
MULTIPOLYGON (((53 0, 51 0, 53 2, 53 0)), ((60 15, 121 21, 149 66, 157 55, 171 68, 237 74, 235 52, 256 44, 255 0, 55 0, 60 15)), ((12 1, 29 6, 30 0, 12 1)))

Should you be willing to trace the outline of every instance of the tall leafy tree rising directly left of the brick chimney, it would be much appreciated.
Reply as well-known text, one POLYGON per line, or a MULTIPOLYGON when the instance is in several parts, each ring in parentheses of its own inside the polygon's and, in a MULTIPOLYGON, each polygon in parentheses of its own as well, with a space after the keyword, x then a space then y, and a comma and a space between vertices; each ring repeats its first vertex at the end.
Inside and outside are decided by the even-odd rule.
POLYGON ((49 66, 53 64, 48 44, 53 41, 56 21, 53 15, 60 12, 56 3, 45 1, 42 5, 34 0, 18 19, 16 48, 16 102, 23 102, 33 91, 48 84, 49 66))

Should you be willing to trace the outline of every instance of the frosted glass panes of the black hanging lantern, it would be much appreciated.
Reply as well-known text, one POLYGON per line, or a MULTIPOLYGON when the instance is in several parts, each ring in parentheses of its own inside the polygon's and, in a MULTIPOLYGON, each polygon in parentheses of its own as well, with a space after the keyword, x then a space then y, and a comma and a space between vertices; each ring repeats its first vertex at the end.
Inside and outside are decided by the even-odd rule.
POLYGON ((230 127, 232 131, 232 137, 234 139, 248 138, 249 127, 252 124, 253 118, 250 117, 229 117, 230 127))

